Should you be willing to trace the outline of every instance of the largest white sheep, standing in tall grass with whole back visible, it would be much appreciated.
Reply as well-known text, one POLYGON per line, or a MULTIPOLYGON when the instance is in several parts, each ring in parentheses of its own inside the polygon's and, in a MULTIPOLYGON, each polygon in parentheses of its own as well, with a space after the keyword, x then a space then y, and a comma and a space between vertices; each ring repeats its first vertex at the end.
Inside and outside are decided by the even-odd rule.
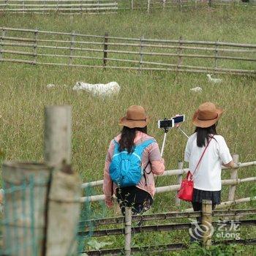
POLYGON ((88 91, 94 96, 102 96, 102 97, 109 97, 115 94, 118 94, 120 91, 120 86, 116 82, 110 82, 106 84, 97 83, 97 84, 90 84, 90 83, 83 83, 78 82, 73 87, 74 91, 88 91))

